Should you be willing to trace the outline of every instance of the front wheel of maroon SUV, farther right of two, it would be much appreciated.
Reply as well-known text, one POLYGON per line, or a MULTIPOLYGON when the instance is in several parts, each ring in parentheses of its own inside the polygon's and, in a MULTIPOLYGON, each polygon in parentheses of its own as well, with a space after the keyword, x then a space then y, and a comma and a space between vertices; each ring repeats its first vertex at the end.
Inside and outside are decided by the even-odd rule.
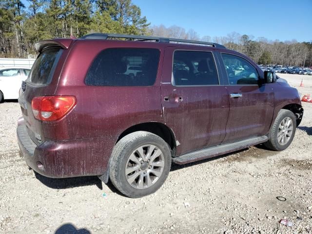
POLYGON ((269 134, 269 140, 264 145, 274 151, 285 150, 291 143, 296 132, 296 117, 282 109, 278 112, 269 134))

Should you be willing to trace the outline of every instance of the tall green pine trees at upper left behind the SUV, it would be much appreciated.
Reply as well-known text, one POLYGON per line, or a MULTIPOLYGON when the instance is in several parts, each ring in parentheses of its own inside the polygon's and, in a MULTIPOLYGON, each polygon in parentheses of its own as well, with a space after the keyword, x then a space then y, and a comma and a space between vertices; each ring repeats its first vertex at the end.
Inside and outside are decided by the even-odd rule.
POLYGON ((131 0, 21 0, 0 2, 1 57, 25 58, 43 39, 93 32, 147 34, 146 17, 131 0))

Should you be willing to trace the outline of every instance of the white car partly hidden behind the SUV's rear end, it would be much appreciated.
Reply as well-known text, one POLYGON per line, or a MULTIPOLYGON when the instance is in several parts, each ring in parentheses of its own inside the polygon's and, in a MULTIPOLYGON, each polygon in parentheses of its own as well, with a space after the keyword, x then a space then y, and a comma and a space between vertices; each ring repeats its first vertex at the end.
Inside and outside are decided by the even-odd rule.
POLYGON ((0 102, 19 98, 21 82, 29 72, 29 67, 0 67, 0 102))

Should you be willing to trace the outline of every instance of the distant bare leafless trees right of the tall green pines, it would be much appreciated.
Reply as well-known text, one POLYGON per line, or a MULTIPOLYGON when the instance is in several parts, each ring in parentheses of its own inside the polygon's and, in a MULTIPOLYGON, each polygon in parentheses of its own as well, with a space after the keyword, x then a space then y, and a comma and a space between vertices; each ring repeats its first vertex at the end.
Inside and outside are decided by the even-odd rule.
POLYGON ((258 64, 276 64, 283 66, 312 66, 312 42, 297 42, 268 40, 266 38, 254 39, 253 36, 240 35, 236 32, 224 37, 210 37, 199 35, 194 30, 185 31, 178 26, 165 27, 164 25, 150 28, 154 35, 160 37, 173 37, 210 41, 224 45, 228 49, 247 55, 258 64))

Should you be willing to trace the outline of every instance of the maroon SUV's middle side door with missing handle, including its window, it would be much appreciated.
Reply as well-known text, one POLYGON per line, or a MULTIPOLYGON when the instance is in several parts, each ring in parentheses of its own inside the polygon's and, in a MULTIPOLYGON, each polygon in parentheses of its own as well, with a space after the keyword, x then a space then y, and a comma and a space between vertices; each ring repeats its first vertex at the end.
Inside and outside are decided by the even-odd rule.
POLYGON ((219 81, 213 51, 167 47, 161 99, 162 121, 177 140, 176 156, 222 142, 229 98, 219 81))

